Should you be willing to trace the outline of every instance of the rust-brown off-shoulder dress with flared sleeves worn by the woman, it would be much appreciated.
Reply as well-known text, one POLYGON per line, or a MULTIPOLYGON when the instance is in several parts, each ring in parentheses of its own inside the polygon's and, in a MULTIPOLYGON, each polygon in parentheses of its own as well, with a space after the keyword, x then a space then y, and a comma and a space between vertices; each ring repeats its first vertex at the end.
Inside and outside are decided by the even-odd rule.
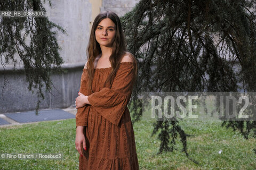
POLYGON ((86 126, 86 151, 79 156, 79 169, 139 169, 134 132, 127 104, 133 84, 134 64, 120 64, 112 87, 103 87, 111 67, 95 69, 93 94, 86 90, 87 69, 83 69, 80 92, 91 105, 78 108, 76 126, 86 126))

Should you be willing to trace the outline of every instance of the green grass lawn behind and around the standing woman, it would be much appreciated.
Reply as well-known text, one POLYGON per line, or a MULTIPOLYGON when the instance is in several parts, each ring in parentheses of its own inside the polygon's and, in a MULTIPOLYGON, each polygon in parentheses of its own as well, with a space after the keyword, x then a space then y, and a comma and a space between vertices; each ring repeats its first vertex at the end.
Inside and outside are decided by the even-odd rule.
MULTIPOLYGON (((173 152, 157 155, 157 135, 150 137, 154 120, 143 116, 133 124, 140 169, 256 169, 256 140, 245 140, 239 132, 222 128, 220 121, 186 119, 180 121, 186 133, 188 153, 177 141, 173 152), (219 151, 222 153, 219 154, 219 151)), ((39 122, 0 128, 1 153, 63 153, 61 160, 0 160, 0 169, 78 169, 75 149, 75 119, 39 122)))

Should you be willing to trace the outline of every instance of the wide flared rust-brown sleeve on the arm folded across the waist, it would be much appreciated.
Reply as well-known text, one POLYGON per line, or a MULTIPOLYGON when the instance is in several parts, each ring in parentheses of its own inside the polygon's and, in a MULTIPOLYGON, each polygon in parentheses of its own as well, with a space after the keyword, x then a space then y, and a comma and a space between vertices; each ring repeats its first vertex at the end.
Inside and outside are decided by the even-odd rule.
POLYGON ((99 114, 115 125, 121 121, 129 103, 133 89, 134 69, 132 62, 121 63, 111 88, 104 87, 87 98, 99 114))

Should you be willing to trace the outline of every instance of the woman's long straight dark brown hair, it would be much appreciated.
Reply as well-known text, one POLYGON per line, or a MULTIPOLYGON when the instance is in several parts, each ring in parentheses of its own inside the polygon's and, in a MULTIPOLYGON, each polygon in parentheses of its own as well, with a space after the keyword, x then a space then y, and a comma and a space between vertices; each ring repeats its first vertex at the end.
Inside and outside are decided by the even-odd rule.
POLYGON ((132 57, 132 59, 134 61, 135 77, 134 77, 133 82, 135 82, 135 79, 137 78, 137 61, 135 60, 135 57, 131 53, 126 52, 124 33, 123 33, 123 29, 122 29, 122 25, 121 25, 119 17, 117 16, 116 13, 111 12, 111 11, 103 12, 103 13, 98 14, 93 22, 90 39, 89 39, 89 45, 86 50, 86 53, 87 53, 86 67, 87 67, 87 73, 88 73, 88 79, 89 79, 88 83, 87 83, 87 89, 89 89, 90 92, 93 92, 92 81, 93 81, 93 76, 94 76, 94 71, 95 71, 94 70, 94 61, 95 61, 95 58, 101 53, 100 45, 95 38, 95 30, 97 29, 98 24, 103 19, 106 19, 106 18, 109 18, 110 20, 112 20, 115 23, 116 35, 115 35, 115 39, 114 39, 113 46, 112 46, 112 48, 113 48, 112 54, 109 57, 109 61, 111 63, 111 73, 109 74, 109 76, 104 84, 104 87, 106 86, 107 82, 110 83, 110 86, 113 83, 116 72, 119 68, 119 64, 121 63, 121 60, 125 54, 132 57))

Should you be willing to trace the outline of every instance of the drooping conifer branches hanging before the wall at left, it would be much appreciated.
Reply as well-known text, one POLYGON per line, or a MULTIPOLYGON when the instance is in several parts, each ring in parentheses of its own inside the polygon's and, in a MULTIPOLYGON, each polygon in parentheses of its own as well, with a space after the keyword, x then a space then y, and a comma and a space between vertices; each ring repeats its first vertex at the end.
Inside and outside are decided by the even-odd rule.
MULTIPOLYGON (((48 1, 51 6, 51 1, 48 1)), ((44 0, 45 3, 45 0, 44 0)), ((0 11, 44 11, 40 0, 8 1, 0 2, 0 11)), ((3 69, 6 64, 14 64, 17 70, 17 59, 20 57, 20 69, 25 71, 28 89, 34 92, 37 89, 38 114, 40 98, 44 99, 42 88, 44 84, 50 92, 52 82, 50 75, 61 73, 62 58, 59 55, 61 47, 57 42, 57 30, 66 31, 60 26, 48 20, 47 16, 37 18, 0 18, 0 57, 3 69), (53 31, 53 30, 56 31, 53 31), (29 41, 29 43, 27 43, 29 41)), ((6 79, 4 84, 6 84, 6 79)), ((3 87, 4 89, 4 87, 3 87)))

